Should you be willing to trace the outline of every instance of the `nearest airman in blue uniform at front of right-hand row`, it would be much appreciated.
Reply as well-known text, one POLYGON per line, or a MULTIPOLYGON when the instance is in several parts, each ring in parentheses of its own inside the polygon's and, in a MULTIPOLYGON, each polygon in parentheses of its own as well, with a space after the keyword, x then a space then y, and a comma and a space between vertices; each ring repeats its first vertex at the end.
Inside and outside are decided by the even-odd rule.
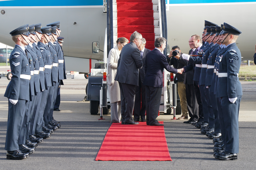
MULTIPOLYGON (((236 46, 236 39, 242 32, 224 23, 221 38, 226 45, 224 53, 218 62, 217 97, 220 97, 222 120, 225 137, 224 152, 217 153, 215 158, 221 160, 235 160, 239 150, 238 112, 242 97, 242 86, 238 78, 241 65, 241 53, 236 46)), ((223 137, 222 137, 223 138, 223 137)))

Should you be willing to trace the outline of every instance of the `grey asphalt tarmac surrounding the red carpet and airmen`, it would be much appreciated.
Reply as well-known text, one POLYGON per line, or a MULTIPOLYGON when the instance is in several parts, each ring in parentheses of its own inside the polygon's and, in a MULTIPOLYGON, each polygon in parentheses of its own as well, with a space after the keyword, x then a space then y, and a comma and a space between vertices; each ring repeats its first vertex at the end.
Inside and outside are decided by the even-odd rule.
MULTIPOLYGON (((9 81, 0 80, 0 169, 255 169, 256 167, 256 82, 242 81, 243 96, 239 112, 239 153, 237 160, 222 161, 213 157, 212 140, 183 120, 160 113, 164 121, 167 145, 172 161, 95 161, 102 141, 111 126, 110 114, 91 115, 90 102, 84 99, 86 79, 68 79, 61 86, 60 110, 53 116, 61 121, 60 129, 36 147, 24 160, 7 160, 4 150, 8 102, 4 92, 9 81)), ((179 117, 180 115, 177 115, 179 117)), ((141 151, 143 152, 143 151, 141 151)))

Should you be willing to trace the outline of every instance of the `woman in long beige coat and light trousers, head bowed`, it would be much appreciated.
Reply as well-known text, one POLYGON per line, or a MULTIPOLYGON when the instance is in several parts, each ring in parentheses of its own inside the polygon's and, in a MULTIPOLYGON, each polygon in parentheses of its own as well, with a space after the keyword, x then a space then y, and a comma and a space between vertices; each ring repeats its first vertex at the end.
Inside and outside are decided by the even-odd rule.
POLYGON ((121 37, 116 41, 115 48, 108 54, 108 91, 110 94, 111 123, 120 123, 121 119, 121 97, 118 81, 115 81, 117 71, 117 61, 123 46, 128 43, 128 39, 121 37), (118 109, 117 109, 118 106, 118 109))

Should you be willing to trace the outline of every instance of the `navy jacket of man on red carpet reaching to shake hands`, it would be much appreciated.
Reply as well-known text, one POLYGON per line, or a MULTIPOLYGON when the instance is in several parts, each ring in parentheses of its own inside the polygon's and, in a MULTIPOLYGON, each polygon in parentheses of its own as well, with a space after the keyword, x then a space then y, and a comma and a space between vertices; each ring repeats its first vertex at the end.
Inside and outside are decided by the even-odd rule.
POLYGON ((172 68, 164 54, 158 49, 148 52, 145 60, 145 79, 144 85, 162 88, 163 87, 163 70, 164 68, 172 73, 177 74, 178 70, 172 68))

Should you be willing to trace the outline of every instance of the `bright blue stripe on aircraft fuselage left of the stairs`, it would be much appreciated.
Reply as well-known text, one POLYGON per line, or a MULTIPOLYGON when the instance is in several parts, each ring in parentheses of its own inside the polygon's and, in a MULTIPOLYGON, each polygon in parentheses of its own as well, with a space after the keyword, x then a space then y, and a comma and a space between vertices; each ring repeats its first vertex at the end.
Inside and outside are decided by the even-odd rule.
POLYGON ((103 5, 102 0, 9 0, 0 1, 0 6, 92 6, 103 5))

